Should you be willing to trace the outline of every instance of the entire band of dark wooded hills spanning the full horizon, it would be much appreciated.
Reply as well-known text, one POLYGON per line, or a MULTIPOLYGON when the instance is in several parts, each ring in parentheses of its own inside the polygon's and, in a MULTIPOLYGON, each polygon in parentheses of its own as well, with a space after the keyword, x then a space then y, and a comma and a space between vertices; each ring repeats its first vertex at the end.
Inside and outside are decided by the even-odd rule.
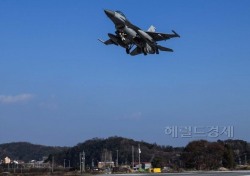
POLYGON ((236 165, 250 163, 250 144, 243 140, 226 140, 209 142, 206 140, 192 141, 185 147, 174 148, 160 146, 144 141, 135 141, 123 137, 93 138, 74 147, 48 147, 26 142, 0 145, 0 159, 8 156, 12 160, 41 160, 49 156, 54 158, 57 166, 78 168, 79 155, 84 151, 86 167, 97 166, 99 161, 116 162, 119 165, 140 161, 151 162, 154 167, 168 166, 187 169, 217 169, 221 166, 234 168, 236 165), (134 152, 132 152, 134 150, 134 152), (132 154, 133 153, 133 154, 132 154))

